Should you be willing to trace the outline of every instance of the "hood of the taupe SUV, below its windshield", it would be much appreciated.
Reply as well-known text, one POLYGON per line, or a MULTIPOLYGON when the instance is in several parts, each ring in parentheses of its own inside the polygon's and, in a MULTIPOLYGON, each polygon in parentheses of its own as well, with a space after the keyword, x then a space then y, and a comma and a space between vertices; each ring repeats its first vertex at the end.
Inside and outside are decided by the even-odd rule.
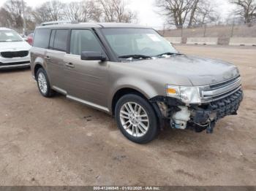
MULTIPOLYGON (((161 72, 165 76, 186 77, 192 85, 212 85, 227 81, 239 75, 236 66, 219 60, 198 58, 195 56, 175 55, 170 58, 143 60, 133 62, 138 67, 154 72, 161 72)), ((169 82, 170 85, 172 82, 169 82)))

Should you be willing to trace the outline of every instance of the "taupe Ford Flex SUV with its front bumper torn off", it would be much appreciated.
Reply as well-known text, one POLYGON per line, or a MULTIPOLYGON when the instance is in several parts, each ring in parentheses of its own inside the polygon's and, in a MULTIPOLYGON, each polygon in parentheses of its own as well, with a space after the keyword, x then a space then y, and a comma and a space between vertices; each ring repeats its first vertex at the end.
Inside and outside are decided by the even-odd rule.
POLYGON ((112 114, 140 144, 166 125, 212 133, 243 98, 236 66, 181 54, 154 29, 132 24, 39 26, 31 71, 43 96, 59 92, 112 114))

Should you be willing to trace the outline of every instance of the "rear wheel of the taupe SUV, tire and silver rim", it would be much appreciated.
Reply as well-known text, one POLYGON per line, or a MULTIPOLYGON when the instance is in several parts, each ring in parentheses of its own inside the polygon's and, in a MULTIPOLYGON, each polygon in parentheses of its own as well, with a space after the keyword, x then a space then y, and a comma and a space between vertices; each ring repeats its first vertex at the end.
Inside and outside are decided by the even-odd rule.
POLYGON ((37 87, 39 92, 45 98, 53 97, 54 91, 50 88, 50 82, 48 75, 44 69, 38 69, 37 71, 37 87))

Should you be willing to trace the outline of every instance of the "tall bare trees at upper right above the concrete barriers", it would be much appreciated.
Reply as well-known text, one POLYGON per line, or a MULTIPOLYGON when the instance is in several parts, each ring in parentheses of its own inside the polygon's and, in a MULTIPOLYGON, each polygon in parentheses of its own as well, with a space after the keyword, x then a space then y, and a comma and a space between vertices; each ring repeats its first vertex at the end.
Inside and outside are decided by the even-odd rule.
MULTIPOLYGON (((230 12, 233 22, 250 26, 256 20, 256 0, 227 0, 236 8, 230 12)), ((206 24, 219 23, 222 6, 211 0, 156 0, 159 14, 176 28, 191 28, 206 24)), ((230 20, 227 18, 227 21, 230 20)))

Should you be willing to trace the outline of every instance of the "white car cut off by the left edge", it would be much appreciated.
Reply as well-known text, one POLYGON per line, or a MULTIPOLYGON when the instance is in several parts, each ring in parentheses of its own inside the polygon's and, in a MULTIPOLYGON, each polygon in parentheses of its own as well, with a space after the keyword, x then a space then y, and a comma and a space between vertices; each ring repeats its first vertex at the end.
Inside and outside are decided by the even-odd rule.
POLYGON ((10 28, 0 28, 0 69, 30 66, 31 46, 10 28))

